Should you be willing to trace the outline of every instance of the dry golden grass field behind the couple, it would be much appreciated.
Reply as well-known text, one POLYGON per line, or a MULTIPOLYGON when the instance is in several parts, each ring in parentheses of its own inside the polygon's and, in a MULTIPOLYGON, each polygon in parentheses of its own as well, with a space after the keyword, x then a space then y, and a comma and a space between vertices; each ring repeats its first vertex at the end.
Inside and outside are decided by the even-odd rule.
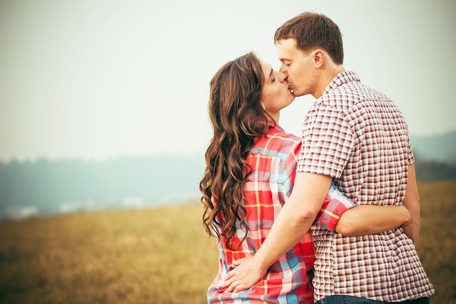
MULTIPOLYGON (((416 248, 436 290, 456 301, 456 181, 419 184, 416 248)), ((107 211, 0 222, 1 303, 205 303, 217 247, 202 207, 107 211)))

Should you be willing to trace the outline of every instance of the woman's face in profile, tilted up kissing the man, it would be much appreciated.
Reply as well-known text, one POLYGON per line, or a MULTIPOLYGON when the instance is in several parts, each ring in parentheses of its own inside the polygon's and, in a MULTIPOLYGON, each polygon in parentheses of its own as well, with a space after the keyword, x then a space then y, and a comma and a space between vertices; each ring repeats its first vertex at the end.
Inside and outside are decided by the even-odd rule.
POLYGON ((276 117, 281 109, 293 102, 295 97, 288 87, 284 73, 273 70, 271 65, 264 61, 261 61, 261 66, 264 74, 261 104, 272 117, 276 117))

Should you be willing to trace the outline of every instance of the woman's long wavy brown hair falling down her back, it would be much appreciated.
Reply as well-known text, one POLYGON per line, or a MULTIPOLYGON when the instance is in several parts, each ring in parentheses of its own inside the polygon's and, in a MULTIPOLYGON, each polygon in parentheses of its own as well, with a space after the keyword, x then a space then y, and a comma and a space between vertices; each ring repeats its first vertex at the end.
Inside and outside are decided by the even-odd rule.
POLYGON ((231 250, 236 250, 236 221, 245 232, 240 244, 248 232, 242 198, 243 184, 252 168, 246 158, 255 139, 265 136, 274 122, 261 105, 263 84, 261 62, 252 52, 227 62, 210 82, 209 118, 214 136, 206 151, 207 167, 200 182, 203 225, 209 236, 218 241, 224 237, 225 246, 231 250))

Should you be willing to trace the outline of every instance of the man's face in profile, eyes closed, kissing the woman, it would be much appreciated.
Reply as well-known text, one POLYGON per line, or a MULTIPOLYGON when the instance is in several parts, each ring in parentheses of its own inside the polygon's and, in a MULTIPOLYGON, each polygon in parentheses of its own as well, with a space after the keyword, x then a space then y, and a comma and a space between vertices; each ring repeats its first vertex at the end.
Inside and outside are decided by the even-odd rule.
POLYGON ((279 70, 287 75, 294 96, 312 94, 317 80, 312 53, 297 49, 292 38, 279 40, 276 47, 281 63, 279 70))

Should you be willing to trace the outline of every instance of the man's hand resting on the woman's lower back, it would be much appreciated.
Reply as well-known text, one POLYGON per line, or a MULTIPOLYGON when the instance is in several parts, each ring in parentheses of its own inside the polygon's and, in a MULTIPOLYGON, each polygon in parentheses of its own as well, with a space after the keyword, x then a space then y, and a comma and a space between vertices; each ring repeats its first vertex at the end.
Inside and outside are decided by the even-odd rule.
POLYGON ((253 256, 235 260, 233 265, 237 265, 237 267, 226 274, 225 283, 222 285, 222 287, 230 286, 225 290, 226 292, 240 292, 252 287, 264 277, 268 270, 259 265, 253 256))

